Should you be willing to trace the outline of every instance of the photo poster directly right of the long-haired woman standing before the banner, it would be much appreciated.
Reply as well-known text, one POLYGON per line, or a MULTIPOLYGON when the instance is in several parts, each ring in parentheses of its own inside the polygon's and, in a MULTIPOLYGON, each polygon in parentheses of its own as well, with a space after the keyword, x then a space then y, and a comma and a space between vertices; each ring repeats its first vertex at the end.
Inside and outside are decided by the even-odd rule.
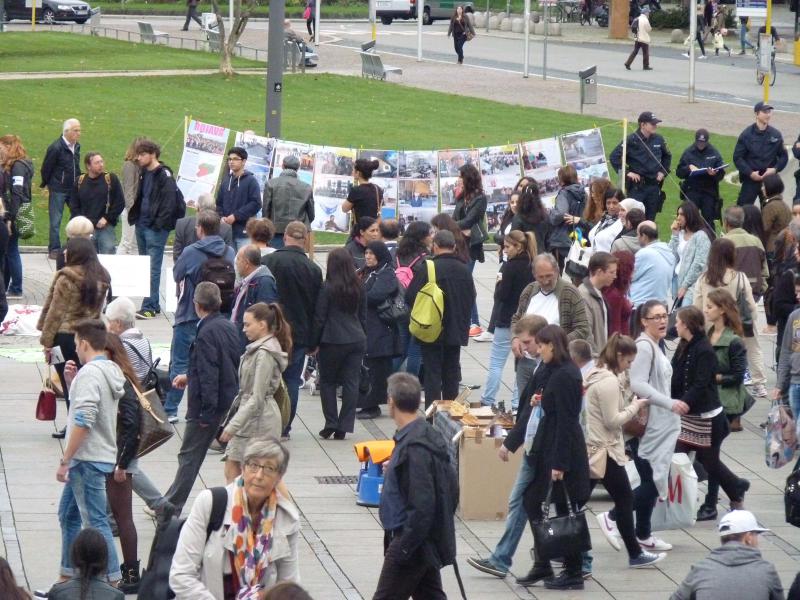
POLYGON ((486 224, 489 231, 496 231, 522 174, 519 146, 489 146, 479 148, 478 152, 483 192, 486 194, 486 224))

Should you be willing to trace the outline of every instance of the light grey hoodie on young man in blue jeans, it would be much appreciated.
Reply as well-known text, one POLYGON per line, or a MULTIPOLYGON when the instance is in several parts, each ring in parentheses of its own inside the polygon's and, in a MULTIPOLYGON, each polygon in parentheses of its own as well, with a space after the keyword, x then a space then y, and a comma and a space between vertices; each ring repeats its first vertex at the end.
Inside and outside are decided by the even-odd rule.
POLYGON ((76 426, 89 435, 74 460, 117 462, 117 402, 125 393, 125 376, 116 363, 96 359, 81 367, 69 390, 67 439, 76 426))

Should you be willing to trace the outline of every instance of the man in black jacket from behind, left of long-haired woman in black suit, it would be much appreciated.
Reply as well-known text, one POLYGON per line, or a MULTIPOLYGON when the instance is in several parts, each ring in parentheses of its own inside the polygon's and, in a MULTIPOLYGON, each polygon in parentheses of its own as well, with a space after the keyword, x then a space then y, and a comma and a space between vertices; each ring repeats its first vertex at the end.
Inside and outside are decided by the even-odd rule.
POLYGON ((322 269, 306 256, 307 235, 308 229, 303 223, 291 221, 284 230, 284 246, 261 259, 261 264, 266 265, 275 277, 283 314, 292 326, 292 355, 283 372, 292 401, 292 414, 283 431, 284 437, 289 436, 297 413, 306 350, 314 346, 310 325, 314 320, 314 308, 322 287, 322 269))

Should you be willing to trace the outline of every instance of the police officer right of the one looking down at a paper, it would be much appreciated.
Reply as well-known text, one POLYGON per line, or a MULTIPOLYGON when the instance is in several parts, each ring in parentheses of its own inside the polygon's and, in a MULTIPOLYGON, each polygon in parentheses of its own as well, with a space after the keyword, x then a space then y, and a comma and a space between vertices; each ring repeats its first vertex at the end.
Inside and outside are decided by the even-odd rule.
POLYGON ((733 150, 733 164, 739 169, 739 181, 742 184, 736 201, 739 206, 753 204, 756 196, 763 202, 761 182, 764 177, 782 171, 789 161, 781 132, 769 124, 772 107, 759 102, 753 111, 756 122, 739 134, 733 150))

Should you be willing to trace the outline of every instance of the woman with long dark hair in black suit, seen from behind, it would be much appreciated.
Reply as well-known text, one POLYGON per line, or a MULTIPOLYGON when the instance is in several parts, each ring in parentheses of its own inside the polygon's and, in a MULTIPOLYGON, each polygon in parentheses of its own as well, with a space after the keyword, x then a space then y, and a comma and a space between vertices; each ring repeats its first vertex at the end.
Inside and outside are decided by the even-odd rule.
POLYGON ((328 254, 325 284, 317 297, 311 339, 318 348, 319 394, 325 427, 323 439, 343 440, 355 425, 361 363, 366 351, 367 302, 350 254, 336 248, 328 254), (336 388, 342 407, 336 410, 336 388))

